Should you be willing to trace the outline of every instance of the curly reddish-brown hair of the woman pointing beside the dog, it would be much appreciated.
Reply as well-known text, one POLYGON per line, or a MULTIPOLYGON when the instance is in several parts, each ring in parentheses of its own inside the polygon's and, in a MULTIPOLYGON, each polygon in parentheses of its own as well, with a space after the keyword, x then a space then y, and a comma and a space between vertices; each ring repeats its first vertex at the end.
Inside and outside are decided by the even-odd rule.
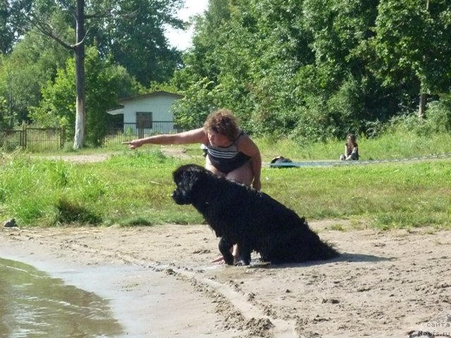
POLYGON ((230 141, 235 141, 240 133, 238 120, 228 109, 219 109, 208 115, 204 123, 204 129, 208 132, 217 132, 226 136, 230 141))

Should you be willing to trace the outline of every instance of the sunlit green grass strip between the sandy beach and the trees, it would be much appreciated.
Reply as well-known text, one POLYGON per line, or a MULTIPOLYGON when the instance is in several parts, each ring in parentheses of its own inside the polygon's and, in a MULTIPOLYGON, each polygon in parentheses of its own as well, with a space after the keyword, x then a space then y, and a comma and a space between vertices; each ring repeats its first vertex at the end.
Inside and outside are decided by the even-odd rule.
MULTIPOLYGON (((255 141, 265 163, 278 155, 293 161, 336 160, 343 147, 340 140, 303 146, 288 140, 255 141)), ((445 153, 451 137, 392 134, 359 140, 359 146, 363 159, 409 158, 445 153)), ((189 159, 164 156, 159 146, 102 149, 114 155, 99 163, 0 154, 0 220, 14 217, 21 226, 202 223, 192 206, 178 206, 171 199, 172 171, 204 161, 198 145, 180 148, 189 159)), ((261 174, 262 191, 307 220, 346 219, 381 229, 450 228, 450 177, 450 158, 321 168, 266 165, 261 174)))

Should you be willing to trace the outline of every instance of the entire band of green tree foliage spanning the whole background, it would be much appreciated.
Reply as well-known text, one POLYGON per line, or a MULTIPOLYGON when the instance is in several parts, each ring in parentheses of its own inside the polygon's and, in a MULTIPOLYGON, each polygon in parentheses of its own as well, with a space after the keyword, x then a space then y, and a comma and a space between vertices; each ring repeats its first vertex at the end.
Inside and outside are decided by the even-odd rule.
MULTIPOLYGON (((13 108, 15 123, 29 118, 30 106, 37 107, 34 118, 39 111, 45 120, 45 113, 54 111, 53 123, 61 123, 54 104, 67 111, 63 115, 70 121, 73 106, 64 101, 67 95, 64 100, 58 96, 73 90, 67 80, 70 54, 35 35, 37 30, 25 25, 30 20, 20 14, 42 14, 39 18, 55 28, 58 38, 75 44, 67 11, 75 2, 0 0, 0 96, 13 108), (2 11, 5 4, 8 11, 2 11)), ((375 135, 375 126, 414 112, 426 95, 426 118, 447 124, 450 1, 210 0, 208 10, 194 19, 192 48, 180 56, 168 46, 164 25, 183 27, 175 18, 182 5, 183 0, 85 0, 89 30, 84 43, 99 51, 89 62, 97 60, 100 72, 89 65, 86 77, 105 86, 87 89, 87 101, 98 98, 87 103, 88 123, 99 118, 91 127, 104 123, 94 112, 108 98, 121 96, 121 86, 112 84, 106 69, 121 69, 120 78, 128 73, 148 89, 180 90, 185 98, 174 112, 185 128, 199 127, 210 111, 227 107, 254 134, 290 135, 299 142, 348 132, 375 135), (118 65, 122 68, 114 68, 118 65)), ((127 81, 123 86, 135 85, 127 81)), ((101 134, 88 133, 92 143, 101 134)))

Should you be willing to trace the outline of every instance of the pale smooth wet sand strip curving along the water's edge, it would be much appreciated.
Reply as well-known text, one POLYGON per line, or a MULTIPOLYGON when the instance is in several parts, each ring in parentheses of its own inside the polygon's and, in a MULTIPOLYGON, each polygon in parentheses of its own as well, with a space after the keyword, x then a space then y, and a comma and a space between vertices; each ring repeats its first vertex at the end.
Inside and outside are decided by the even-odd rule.
POLYGON ((170 313, 177 315, 178 311, 200 307, 202 311, 214 313, 214 307, 204 306, 203 299, 192 296, 192 290, 187 290, 190 296, 180 299, 171 296, 177 295, 186 285, 168 278, 163 267, 161 271, 155 271, 136 262, 113 259, 99 263, 99 258, 94 257, 77 258, 76 254, 71 256, 66 252, 55 255, 42 243, 35 242, 2 242, 0 257, 32 265, 67 285, 93 292, 108 301, 113 317, 123 327, 120 337, 230 337, 211 331, 216 315, 204 316, 207 323, 210 321, 210 326, 203 327, 205 324, 202 323, 200 332, 190 329, 191 323, 183 323, 183 320, 180 320, 180 325, 173 325, 170 313), (171 311, 172 307, 178 311, 171 311))

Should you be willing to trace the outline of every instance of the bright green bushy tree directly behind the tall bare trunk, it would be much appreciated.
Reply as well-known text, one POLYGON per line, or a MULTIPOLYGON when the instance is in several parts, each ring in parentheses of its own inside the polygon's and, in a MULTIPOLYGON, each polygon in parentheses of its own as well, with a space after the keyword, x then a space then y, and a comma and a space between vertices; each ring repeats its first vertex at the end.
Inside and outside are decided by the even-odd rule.
MULTIPOLYGON (((116 104, 118 96, 132 96, 139 87, 123 67, 102 60, 94 46, 87 49, 85 61, 87 142, 98 146, 106 132, 106 110, 116 104)), ((47 81, 42 100, 30 108, 33 123, 42 127, 74 125, 75 73, 74 58, 69 58, 55 79, 47 81)), ((73 132, 69 134, 73 136, 73 132)))

